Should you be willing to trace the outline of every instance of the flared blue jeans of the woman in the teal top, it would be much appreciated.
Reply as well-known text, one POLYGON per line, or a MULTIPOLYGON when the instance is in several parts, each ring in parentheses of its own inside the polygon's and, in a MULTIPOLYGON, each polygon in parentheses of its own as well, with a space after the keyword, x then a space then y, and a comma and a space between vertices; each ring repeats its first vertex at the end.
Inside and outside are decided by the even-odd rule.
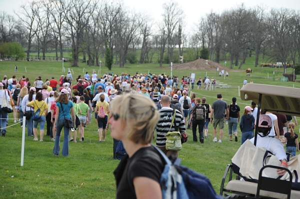
POLYGON ((63 156, 68 155, 68 134, 69 134, 69 128, 65 127, 64 125, 64 119, 57 120, 56 122, 56 139, 53 147, 53 153, 55 155, 59 154, 59 138, 60 138, 60 132, 63 128, 63 145, 62 145, 62 152, 61 154, 63 156))

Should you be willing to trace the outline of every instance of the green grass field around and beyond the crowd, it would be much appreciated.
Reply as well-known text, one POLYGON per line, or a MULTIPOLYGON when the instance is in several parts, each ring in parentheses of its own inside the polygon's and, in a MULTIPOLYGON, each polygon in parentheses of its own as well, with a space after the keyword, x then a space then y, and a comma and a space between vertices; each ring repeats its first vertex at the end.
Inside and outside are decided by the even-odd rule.
MULTIPOLYGON (((282 68, 259 68, 252 67, 254 57, 248 58, 240 72, 230 72, 226 79, 216 75, 216 71, 207 71, 209 77, 216 77, 232 88, 213 91, 196 90, 196 96, 207 96, 207 101, 212 103, 216 93, 222 93, 223 98, 230 102, 232 96, 238 98, 238 85, 241 86, 245 78, 244 68, 253 69, 252 76, 247 77, 255 83, 275 84, 283 86, 300 87, 300 83, 280 82, 278 79, 283 71, 282 68), (272 78, 275 71, 274 78, 272 78), (269 78, 267 78, 269 73, 269 78)), ((61 62, 27 62, 27 61, 1 61, 0 77, 4 74, 11 76, 14 73, 14 65, 18 65, 16 76, 26 75, 30 81, 41 75, 43 80, 54 76, 58 78, 61 72, 61 62), (27 72, 25 72, 25 67, 27 72)), ((64 63, 69 67, 69 63, 64 63)), ((91 73, 92 69, 98 67, 81 64, 79 67, 71 68, 74 71, 73 78, 83 74, 82 70, 91 73)), ((236 68, 234 68, 236 69, 236 68)), ((158 64, 127 64, 123 68, 113 66, 114 73, 135 72, 147 73, 170 73, 168 66, 159 68, 158 64)), ((102 67, 101 73, 107 72, 102 67)), ((173 74, 181 77, 196 73, 196 78, 203 77, 206 71, 202 70, 173 70, 173 74)), ((288 69, 291 72, 291 69, 288 69)), ((249 101, 237 99, 237 104, 243 109, 249 101)), ((9 118, 12 114, 9 114, 9 118)), ((9 120, 8 125, 13 124, 9 120)), ((211 180, 216 192, 219 191, 221 177, 226 164, 240 145, 240 131, 238 142, 231 142, 227 135, 227 126, 224 129, 223 143, 212 142, 212 126, 209 124, 209 137, 204 144, 192 142, 191 130, 187 130, 188 141, 184 143, 183 149, 179 152, 182 164, 186 165, 211 180)), ((62 137, 61 137, 62 140, 62 137)), ((97 142, 97 126, 93 120, 85 128, 85 140, 80 143, 69 144, 69 156, 58 157, 52 155, 54 143, 48 137, 43 142, 34 142, 32 137, 25 137, 24 166, 20 167, 21 150, 21 128, 15 125, 7 128, 5 137, 0 137, 0 198, 114 198, 115 182, 112 171, 118 164, 118 160, 112 159, 112 138, 109 133, 103 143, 97 142)))

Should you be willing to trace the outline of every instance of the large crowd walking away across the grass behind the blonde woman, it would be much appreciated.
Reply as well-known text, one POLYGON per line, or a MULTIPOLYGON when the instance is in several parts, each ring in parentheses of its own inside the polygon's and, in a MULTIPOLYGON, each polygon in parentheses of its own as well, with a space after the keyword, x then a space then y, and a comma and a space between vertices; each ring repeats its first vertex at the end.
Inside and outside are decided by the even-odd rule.
MULTIPOLYGON (((204 88, 207 88, 207 85, 210 86, 208 81, 209 77, 204 77, 203 81, 199 78, 198 88, 201 87, 202 82, 204 82, 204 88)), ((57 80, 51 77, 43 81, 42 77, 38 76, 33 82, 25 76, 17 79, 13 75, 8 79, 4 75, 0 83, 0 101, 5 99, 13 105, 14 122, 21 121, 22 117, 26 116, 27 135, 33 136, 34 141, 43 141, 46 124, 46 135, 55 141, 56 150, 53 152, 56 154, 60 132, 65 127, 63 123, 65 119, 71 119, 74 122, 74 128, 71 128, 71 131, 64 128, 65 135, 67 135, 64 136, 64 142, 84 141, 84 127, 91 122, 92 117, 97 122, 98 141, 105 141, 108 118, 111 115, 110 103, 122 93, 139 93, 152 99, 160 115, 156 126, 156 145, 159 147, 165 146, 165 134, 171 128, 179 129, 180 133, 185 133, 185 128, 191 128, 192 140, 204 143, 204 138, 208 137, 209 122, 213 126, 212 140, 214 142, 222 142, 224 123, 228 124, 230 141, 233 140, 233 136, 237 141, 238 123, 241 131, 241 144, 253 137, 257 114, 254 102, 251 106, 245 106, 240 116, 240 107, 235 97, 232 97, 232 103, 227 104, 222 100, 222 95, 217 94, 217 100, 210 105, 206 103, 205 97, 196 97, 196 94, 190 91, 189 86, 193 87, 193 84, 194 79, 188 76, 183 76, 179 80, 177 76, 170 77, 164 74, 108 73, 98 77, 95 72, 91 75, 85 72, 83 77, 78 75, 73 79, 71 71, 68 70, 66 75, 61 75, 57 80), (169 127, 173 109, 176 109, 174 126, 169 127), (38 116, 35 117, 35 114, 38 116), (39 138, 37 125, 39 125, 39 138), (78 139, 77 130, 79 131, 78 139)), ((297 124, 296 121, 294 124, 289 124, 292 119, 289 115, 266 112, 266 110, 261 112, 272 118, 269 136, 275 136, 276 132, 276 136, 282 143, 287 142, 289 148, 287 150, 293 152, 289 146, 294 146, 291 144, 291 137, 297 137, 297 134, 291 132, 292 127, 297 124)), ((7 113, 1 111, 2 135, 6 134, 6 118, 7 113)), ((298 146, 296 141, 294 143, 298 146)))

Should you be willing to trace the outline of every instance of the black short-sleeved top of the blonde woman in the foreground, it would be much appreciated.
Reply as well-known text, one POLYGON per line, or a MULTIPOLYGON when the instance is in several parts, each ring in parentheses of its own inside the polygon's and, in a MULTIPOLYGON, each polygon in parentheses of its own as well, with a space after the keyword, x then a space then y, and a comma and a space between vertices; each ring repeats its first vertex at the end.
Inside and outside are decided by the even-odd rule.
POLYGON ((165 162, 153 147, 142 147, 132 157, 124 156, 113 171, 116 180, 116 198, 136 198, 133 179, 143 176, 159 183, 165 162))

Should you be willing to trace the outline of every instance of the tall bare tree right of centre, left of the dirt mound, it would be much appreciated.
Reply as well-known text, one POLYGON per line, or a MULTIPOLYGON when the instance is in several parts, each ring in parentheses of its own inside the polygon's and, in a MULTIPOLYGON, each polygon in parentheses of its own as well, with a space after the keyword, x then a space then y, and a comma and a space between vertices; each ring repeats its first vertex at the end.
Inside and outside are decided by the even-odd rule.
POLYGON ((183 11, 179 8, 178 3, 169 1, 163 4, 163 22, 166 30, 167 54, 168 61, 173 60, 173 48, 177 44, 174 42, 174 33, 180 21, 182 20, 183 11))

